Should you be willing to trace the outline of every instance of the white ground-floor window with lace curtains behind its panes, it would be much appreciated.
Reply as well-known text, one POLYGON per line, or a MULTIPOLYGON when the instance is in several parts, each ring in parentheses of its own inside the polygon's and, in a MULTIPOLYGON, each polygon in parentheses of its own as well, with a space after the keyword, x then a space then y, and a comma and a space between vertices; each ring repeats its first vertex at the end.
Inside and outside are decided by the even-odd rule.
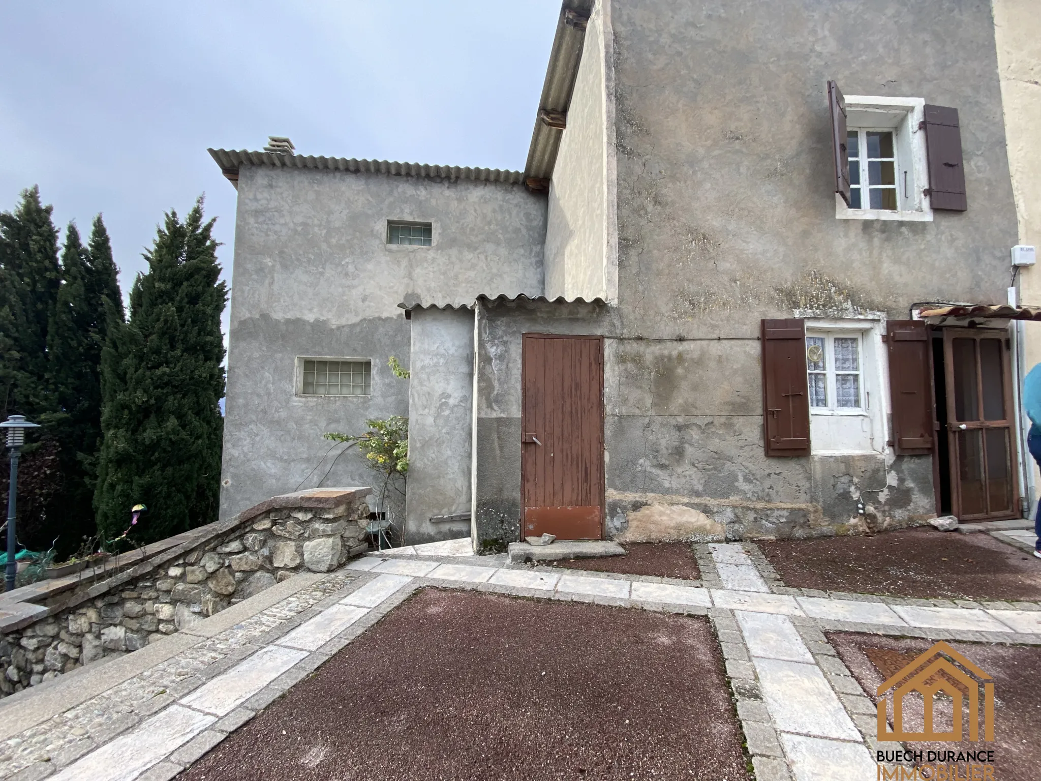
POLYGON ((863 409, 860 334, 807 333, 806 371, 810 407, 817 412, 863 409))

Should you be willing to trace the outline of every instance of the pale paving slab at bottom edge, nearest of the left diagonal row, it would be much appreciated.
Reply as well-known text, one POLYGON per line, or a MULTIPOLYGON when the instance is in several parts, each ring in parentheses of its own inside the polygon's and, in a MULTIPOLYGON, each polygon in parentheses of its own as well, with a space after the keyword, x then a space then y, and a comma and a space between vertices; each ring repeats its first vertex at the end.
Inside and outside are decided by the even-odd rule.
POLYGON ((130 781, 186 744, 217 719, 173 705, 53 776, 54 781, 130 781))

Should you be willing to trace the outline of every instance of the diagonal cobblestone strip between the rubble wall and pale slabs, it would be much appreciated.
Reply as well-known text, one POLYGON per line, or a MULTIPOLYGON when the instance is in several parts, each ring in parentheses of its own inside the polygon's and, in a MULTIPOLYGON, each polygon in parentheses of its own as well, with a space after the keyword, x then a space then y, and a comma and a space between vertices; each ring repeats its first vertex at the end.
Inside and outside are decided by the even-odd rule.
POLYGON ((0 744, 0 779, 45 778, 252 655, 360 573, 341 571, 0 744))

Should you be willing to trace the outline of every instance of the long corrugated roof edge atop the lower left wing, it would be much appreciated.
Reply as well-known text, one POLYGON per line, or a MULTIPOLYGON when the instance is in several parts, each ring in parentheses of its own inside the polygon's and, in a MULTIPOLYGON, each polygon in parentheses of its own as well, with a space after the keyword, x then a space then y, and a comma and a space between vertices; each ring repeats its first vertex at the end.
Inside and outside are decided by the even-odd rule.
POLYGON ((501 171, 491 168, 461 168, 459 166, 428 166, 423 162, 392 162, 390 160, 359 160, 354 157, 315 157, 303 154, 277 152, 250 152, 248 150, 207 150, 222 173, 232 182, 238 181, 243 166, 271 166, 273 168, 299 168, 318 171, 349 171, 351 173, 385 174, 387 176, 417 176, 427 179, 468 179, 472 181, 519 184, 524 176, 519 171, 501 171))

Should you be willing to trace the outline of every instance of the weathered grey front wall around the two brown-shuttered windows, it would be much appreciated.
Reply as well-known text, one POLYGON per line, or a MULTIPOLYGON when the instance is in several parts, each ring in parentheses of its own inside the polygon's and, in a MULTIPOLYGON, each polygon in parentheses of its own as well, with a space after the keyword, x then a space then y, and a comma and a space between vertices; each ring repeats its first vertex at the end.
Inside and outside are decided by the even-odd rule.
POLYGON ((707 533, 841 532, 877 488, 869 524, 933 514, 928 457, 765 457, 758 330, 1004 301, 1016 222, 989 3, 637 0, 611 17, 625 341, 606 348, 609 529, 641 510, 664 524, 651 503, 703 513, 688 520, 707 533), (958 107, 969 210, 837 220, 830 78, 958 107))

